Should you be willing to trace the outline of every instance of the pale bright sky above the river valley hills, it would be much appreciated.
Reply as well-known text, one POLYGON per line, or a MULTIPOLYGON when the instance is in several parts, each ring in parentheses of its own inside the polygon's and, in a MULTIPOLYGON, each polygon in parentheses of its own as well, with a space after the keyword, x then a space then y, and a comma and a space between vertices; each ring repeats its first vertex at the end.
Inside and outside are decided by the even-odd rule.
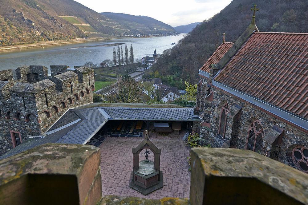
POLYGON ((115 12, 155 18, 171 26, 202 22, 231 0, 75 0, 96 12, 115 12))

